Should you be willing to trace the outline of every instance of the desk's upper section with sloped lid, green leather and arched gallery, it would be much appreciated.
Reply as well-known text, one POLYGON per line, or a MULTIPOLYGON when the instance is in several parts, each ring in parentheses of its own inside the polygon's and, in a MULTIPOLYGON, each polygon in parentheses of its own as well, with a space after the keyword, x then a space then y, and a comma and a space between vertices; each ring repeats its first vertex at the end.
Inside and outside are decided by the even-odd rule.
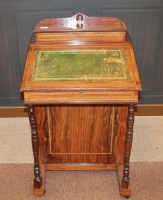
POLYGON ((140 79, 131 40, 118 18, 41 20, 21 91, 26 104, 137 103, 140 79))

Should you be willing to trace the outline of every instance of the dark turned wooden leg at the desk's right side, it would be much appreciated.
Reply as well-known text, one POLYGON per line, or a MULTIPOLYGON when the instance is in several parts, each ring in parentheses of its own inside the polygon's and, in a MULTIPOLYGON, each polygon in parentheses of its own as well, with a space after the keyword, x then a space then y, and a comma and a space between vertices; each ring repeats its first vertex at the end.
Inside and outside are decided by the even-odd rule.
POLYGON ((127 119, 127 135, 126 135, 126 151, 125 151, 125 164, 123 170, 122 188, 127 189, 129 187, 129 160, 133 138, 133 125, 134 125, 134 104, 130 104, 128 107, 128 119, 127 119))

